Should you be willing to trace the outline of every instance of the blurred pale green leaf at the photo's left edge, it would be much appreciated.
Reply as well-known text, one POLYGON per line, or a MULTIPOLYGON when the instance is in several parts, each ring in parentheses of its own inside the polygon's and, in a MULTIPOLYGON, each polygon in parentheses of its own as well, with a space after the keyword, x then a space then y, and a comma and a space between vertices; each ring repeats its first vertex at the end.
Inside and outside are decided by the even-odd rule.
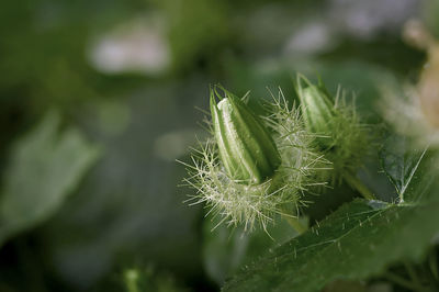
POLYGON ((75 128, 58 135, 49 113, 15 145, 0 198, 0 246, 53 215, 97 160, 99 149, 75 128))

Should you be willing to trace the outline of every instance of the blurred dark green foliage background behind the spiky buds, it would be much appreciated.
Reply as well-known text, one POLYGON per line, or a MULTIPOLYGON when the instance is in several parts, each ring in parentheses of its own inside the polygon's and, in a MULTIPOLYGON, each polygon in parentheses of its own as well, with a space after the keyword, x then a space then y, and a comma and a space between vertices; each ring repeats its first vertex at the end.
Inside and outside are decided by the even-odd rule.
POLYGON ((318 74, 380 123, 382 83, 415 81, 426 57, 402 27, 418 18, 439 33, 438 3, 2 3, 0 291, 217 291, 279 242, 211 233, 182 203, 193 191, 177 187, 176 159, 206 135, 195 108, 209 86, 251 90, 257 105, 266 87, 292 96, 296 71, 318 74))

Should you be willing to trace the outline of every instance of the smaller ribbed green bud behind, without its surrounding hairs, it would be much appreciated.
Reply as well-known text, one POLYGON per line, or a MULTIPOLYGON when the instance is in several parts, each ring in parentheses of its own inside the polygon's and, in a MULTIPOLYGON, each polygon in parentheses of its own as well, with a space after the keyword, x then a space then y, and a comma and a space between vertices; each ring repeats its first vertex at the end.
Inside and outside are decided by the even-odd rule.
MULTIPOLYGON (((335 116, 335 110, 334 103, 326 93, 325 88, 309 83, 304 77, 299 77, 297 94, 301 100, 306 130, 317 135, 328 135, 331 133, 331 121, 335 116), (305 86, 303 81, 305 81, 305 86)), ((324 145, 330 143, 329 139, 325 141, 325 138, 319 138, 318 142, 324 145)))

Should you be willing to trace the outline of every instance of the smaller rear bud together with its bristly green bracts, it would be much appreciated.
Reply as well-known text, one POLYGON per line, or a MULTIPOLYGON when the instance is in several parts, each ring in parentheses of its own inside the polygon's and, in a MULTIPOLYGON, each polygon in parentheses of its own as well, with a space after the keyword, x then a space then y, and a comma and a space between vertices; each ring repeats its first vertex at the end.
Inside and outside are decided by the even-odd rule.
POLYGON ((345 173, 356 173, 362 166, 371 145, 369 126, 357 113, 354 96, 348 102, 347 92, 340 87, 333 97, 322 80, 314 85, 297 75, 296 92, 306 128, 317 136, 316 147, 333 164, 331 171, 327 171, 328 180, 338 184, 345 173))

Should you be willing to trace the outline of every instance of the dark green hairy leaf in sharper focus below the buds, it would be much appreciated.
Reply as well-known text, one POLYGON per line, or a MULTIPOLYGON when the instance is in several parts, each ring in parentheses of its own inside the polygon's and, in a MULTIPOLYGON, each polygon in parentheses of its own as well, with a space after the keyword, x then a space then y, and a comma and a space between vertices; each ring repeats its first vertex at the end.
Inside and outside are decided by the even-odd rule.
POLYGON ((241 270, 224 291, 319 291, 338 279, 364 279, 401 259, 418 259, 439 232, 439 159, 426 153, 391 204, 356 200, 318 226, 241 270))

